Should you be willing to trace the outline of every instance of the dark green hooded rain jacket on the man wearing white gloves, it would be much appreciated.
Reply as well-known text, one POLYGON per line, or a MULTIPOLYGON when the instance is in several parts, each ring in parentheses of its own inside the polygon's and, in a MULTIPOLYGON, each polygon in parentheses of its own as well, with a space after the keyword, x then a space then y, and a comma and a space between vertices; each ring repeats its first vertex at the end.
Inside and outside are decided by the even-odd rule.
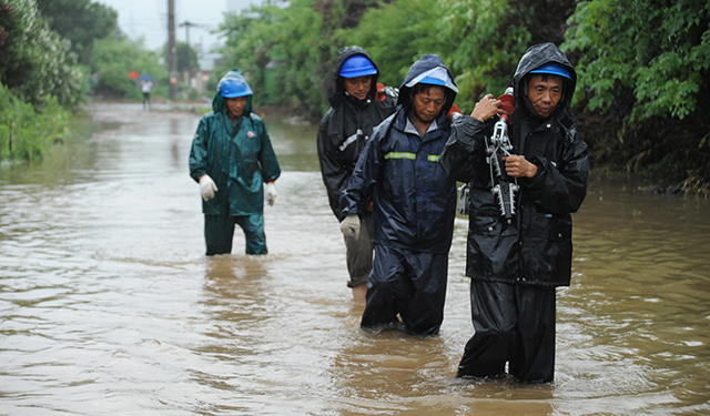
MULTIPOLYGON (((231 70, 222 79, 237 78, 246 82, 242 72, 231 70)), ((196 182, 210 175, 217 192, 202 202, 205 215, 250 215, 264 210, 264 182, 281 174, 276 154, 271 145, 262 119, 252 113, 252 95, 244 113, 232 126, 226 105, 217 91, 212 111, 205 114, 192 140, 190 176, 196 182)))

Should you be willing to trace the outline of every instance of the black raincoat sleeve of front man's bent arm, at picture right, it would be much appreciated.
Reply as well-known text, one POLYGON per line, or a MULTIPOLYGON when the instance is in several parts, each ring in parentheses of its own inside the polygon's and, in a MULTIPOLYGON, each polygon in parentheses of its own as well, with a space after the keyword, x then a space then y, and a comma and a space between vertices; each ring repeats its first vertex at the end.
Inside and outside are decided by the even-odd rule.
POLYGON ((577 131, 572 129, 567 133, 558 163, 540 156, 532 158, 530 162, 537 165, 537 173, 519 181, 528 196, 552 214, 577 212, 587 195, 589 176, 587 144, 577 131))

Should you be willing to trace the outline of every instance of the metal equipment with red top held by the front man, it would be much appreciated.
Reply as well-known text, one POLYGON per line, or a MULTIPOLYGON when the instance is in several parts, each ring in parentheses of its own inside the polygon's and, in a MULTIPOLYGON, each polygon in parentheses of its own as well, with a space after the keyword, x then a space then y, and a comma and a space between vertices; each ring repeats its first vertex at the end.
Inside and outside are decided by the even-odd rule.
MULTIPOLYGON (((498 97, 503 101, 500 106, 508 113, 513 113, 513 88, 508 88, 506 92, 498 97)), ((508 138, 508 124, 510 119, 507 114, 500 114, 500 119, 496 122, 490 139, 486 138, 486 162, 490 168, 490 192, 496 195, 500 215, 506 219, 508 224, 515 215, 515 195, 520 190, 518 180, 509 177, 506 174, 505 162, 503 158, 511 155, 513 144, 508 138)))

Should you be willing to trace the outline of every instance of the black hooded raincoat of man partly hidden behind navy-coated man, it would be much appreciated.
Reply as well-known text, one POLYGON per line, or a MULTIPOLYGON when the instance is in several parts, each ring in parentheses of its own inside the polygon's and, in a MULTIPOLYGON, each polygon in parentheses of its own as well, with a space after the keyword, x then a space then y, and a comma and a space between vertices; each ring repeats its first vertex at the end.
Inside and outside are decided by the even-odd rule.
MULTIPOLYGON (((338 205, 341 192, 351 179, 365 143, 372 136, 374 128, 395 111, 394 99, 389 97, 382 101, 376 99, 379 73, 373 75, 372 87, 365 100, 346 94, 343 78, 338 73, 343 63, 357 54, 373 62, 369 54, 361 47, 343 48, 338 52, 334 75, 335 92, 328 99, 331 109, 321 120, 318 128, 317 150, 321 173, 331 210, 337 217, 341 216, 338 205)), ((375 65, 374 62, 373 65, 375 65)))

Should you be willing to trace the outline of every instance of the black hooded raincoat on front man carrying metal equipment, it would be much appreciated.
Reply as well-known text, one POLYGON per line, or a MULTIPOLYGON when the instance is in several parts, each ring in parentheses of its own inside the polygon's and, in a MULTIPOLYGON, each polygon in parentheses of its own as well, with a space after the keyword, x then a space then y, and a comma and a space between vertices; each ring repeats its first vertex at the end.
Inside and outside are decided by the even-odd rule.
POLYGON ((508 224, 500 216, 490 192, 490 173, 485 156, 485 136, 494 121, 464 116, 439 160, 457 181, 471 184, 466 275, 480 281, 534 286, 566 286, 570 283, 572 260, 571 213, 587 192, 589 162, 587 145, 575 129, 570 109, 577 74, 567 58, 552 43, 528 49, 514 75, 515 111, 509 136, 511 153, 537 165, 534 177, 518 179, 517 214, 508 224), (564 97, 549 119, 526 109, 526 75, 540 65, 555 62, 566 67, 564 97))

